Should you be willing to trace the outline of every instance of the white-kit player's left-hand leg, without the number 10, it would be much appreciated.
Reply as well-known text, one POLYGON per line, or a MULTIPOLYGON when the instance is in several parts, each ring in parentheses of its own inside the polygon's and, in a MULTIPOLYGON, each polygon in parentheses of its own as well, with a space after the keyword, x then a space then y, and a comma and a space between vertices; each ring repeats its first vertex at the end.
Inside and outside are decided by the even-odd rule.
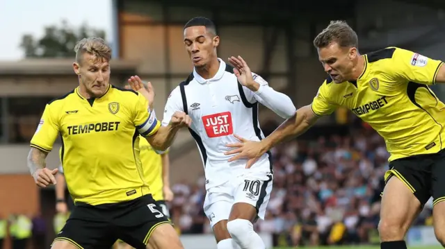
POLYGON ((231 194, 227 194, 230 188, 225 185, 213 187, 207 191, 204 200, 204 212, 207 218, 209 218, 217 248, 237 249, 236 242, 234 242, 227 231, 227 219, 229 218, 234 199, 231 194))

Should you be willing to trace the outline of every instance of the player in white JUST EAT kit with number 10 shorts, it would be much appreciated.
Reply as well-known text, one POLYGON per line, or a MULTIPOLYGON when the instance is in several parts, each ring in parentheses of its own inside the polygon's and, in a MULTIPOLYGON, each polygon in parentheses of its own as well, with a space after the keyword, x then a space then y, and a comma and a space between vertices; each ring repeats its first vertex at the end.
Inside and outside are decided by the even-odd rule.
POLYGON ((252 74, 241 57, 229 58, 235 68, 226 65, 216 54, 219 43, 211 20, 195 17, 186 24, 184 44, 194 70, 168 97, 162 123, 168 124, 175 112, 185 112, 192 120, 189 131, 200 149, 206 176, 204 212, 218 249, 264 249, 252 223, 264 219, 270 198, 270 153, 245 169, 245 160, 227 162, 226 144, 241 137, 256 141, 264 138, 258 103, 284 119, 292 117, 296 108, 288 96, 252 74), (235 137, 235 133, 241 137, 235 137))

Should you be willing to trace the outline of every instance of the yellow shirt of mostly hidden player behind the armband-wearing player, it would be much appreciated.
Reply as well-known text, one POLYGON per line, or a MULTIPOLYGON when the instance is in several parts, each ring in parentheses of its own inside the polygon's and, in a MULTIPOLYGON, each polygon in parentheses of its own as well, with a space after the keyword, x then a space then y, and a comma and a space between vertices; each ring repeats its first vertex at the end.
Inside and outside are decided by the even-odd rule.
POLYGON ((162 157, 154 151, 147 139, 139 140, 139 149, 145 181, 150 187, 154 200, 163 200, 162 157))

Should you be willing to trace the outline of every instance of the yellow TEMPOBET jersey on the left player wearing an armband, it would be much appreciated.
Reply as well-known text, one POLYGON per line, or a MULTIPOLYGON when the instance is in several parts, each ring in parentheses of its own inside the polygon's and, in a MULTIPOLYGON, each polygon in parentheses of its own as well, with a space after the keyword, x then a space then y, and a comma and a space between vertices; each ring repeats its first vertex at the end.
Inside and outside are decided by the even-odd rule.
POLYGON ((51 151, 58 134, 60 162, 75 203, 119 203, 149 194, 138 153, 138 134, 161 126, 145 98, 110 86, 100 98, 83 98, 79 88, 47 104, 31 146, 51 151))

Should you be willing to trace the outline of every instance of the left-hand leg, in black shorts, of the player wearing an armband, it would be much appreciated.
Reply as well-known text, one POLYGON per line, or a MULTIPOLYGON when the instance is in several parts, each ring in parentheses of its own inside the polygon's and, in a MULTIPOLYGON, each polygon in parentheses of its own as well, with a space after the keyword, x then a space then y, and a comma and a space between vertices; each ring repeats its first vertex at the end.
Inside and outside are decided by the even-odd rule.
POLYGON ((111 248, 116 241, 115 231, 103 217, 101 211, 92 206, 74 207, 51 248, 111 248))

